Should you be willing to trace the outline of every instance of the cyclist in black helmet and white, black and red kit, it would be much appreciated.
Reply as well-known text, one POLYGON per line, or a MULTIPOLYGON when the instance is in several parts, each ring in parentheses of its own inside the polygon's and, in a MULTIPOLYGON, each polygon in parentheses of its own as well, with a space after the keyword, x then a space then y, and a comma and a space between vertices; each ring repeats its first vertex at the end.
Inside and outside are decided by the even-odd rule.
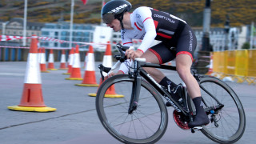
MULTIPOLYGON (((186 84, 190 97, 196 107, 196 116, 189 123, 190 128, 206 125, 210 122, 202 107, 202 97, 198 82, 190 73, 197 39, 190 26, 174 15, 142 6, 129 13, 130 2, 111 0, 102 7, 102 20, 114 31, 121 30, 124 46, 132 46, 133 39, 142 39, 138 50, 126 50, 127 59, 146 58, 146 62, 162 64, 176 58, 176 67, 180 78, 186 84), (161 41, 151 46, 155 40, 161 41), (175 47, 176 50, 172 50, 175 47)), ((129 61, 129 60, 128 60, 129 61)), ((180 95, 181 85, 176 85, 155 68, 144 68, 159 84, 169 90, 175 100, 180 95)), ((126 74, 127 66, 122 63, 116 74, 126 74)), ((114 73, 109 76, 115 75, 114 73)))

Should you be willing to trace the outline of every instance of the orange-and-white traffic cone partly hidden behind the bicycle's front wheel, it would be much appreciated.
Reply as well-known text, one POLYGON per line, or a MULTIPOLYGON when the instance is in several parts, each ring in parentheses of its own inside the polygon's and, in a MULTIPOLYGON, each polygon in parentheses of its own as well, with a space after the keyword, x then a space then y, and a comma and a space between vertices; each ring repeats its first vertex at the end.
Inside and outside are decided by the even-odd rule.
MULTIPOLYGON (((112 54, 111 54, 111 45, 110 42, 108 42, 109 44, 107 44, 106 46, 106 51, 103 57, 103 62, 102 65, 106 66, 106 67, 112 67, 112 54)), ((107 74, 103 72, 103 75, 106 76, 107 74)), ((100 85, 102 84, 102 78, 100 78, 100 85)), ((91 97, 96 97, 96 94, 88 94, 91 97)), ((108 90, 106 90, 105 96, 106 98, 123 98, 124 95, 122 94, 116 94, 115 93, 115 89, 114 89, 114 85, 110 86, 110 88, 108 90)))

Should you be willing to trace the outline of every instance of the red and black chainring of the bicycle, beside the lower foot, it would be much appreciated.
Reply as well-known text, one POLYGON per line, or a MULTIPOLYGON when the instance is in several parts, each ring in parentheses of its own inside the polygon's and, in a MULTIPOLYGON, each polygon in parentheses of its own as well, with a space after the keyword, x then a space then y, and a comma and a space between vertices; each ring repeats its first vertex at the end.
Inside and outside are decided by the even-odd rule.
POLYGON ((174 110, 173 115, 174 115, 174 122, 176 122, 178 127, 182 128, 183 130, 190 130, 190 127, 188 126, 189 122, 186 121, 186 116, 184 114, 174 110))

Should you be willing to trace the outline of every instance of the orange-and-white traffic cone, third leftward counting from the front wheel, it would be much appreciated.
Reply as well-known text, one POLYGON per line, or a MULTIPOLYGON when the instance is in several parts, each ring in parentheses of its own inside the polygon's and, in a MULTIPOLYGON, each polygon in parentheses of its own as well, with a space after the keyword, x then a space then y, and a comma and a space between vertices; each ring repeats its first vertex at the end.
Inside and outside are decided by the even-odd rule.
POLYGON ((79 46, 75 47, 74 53, 74 63, 72 66, 70 78, 65 78, 66 80, 82 80, 81 70, 80 70, 80 55, 79 55, 79 46))

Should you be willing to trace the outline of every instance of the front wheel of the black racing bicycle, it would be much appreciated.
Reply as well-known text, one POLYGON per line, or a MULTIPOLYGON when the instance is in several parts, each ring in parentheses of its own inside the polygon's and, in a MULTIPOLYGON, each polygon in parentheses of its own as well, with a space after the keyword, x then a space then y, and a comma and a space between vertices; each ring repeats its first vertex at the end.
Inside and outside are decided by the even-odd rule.
POLYGON ((96 109, 105 129, 124 143, 154 143, 166 131, 168 115, 158 91, 142 80, 137 110, 128 114, 134 78, 120 74, 106 79, 98 89, 96 109), (112 86, 112 87, 111 87, 112 86), (122 98, 107 98, 111 87, 122 98))

